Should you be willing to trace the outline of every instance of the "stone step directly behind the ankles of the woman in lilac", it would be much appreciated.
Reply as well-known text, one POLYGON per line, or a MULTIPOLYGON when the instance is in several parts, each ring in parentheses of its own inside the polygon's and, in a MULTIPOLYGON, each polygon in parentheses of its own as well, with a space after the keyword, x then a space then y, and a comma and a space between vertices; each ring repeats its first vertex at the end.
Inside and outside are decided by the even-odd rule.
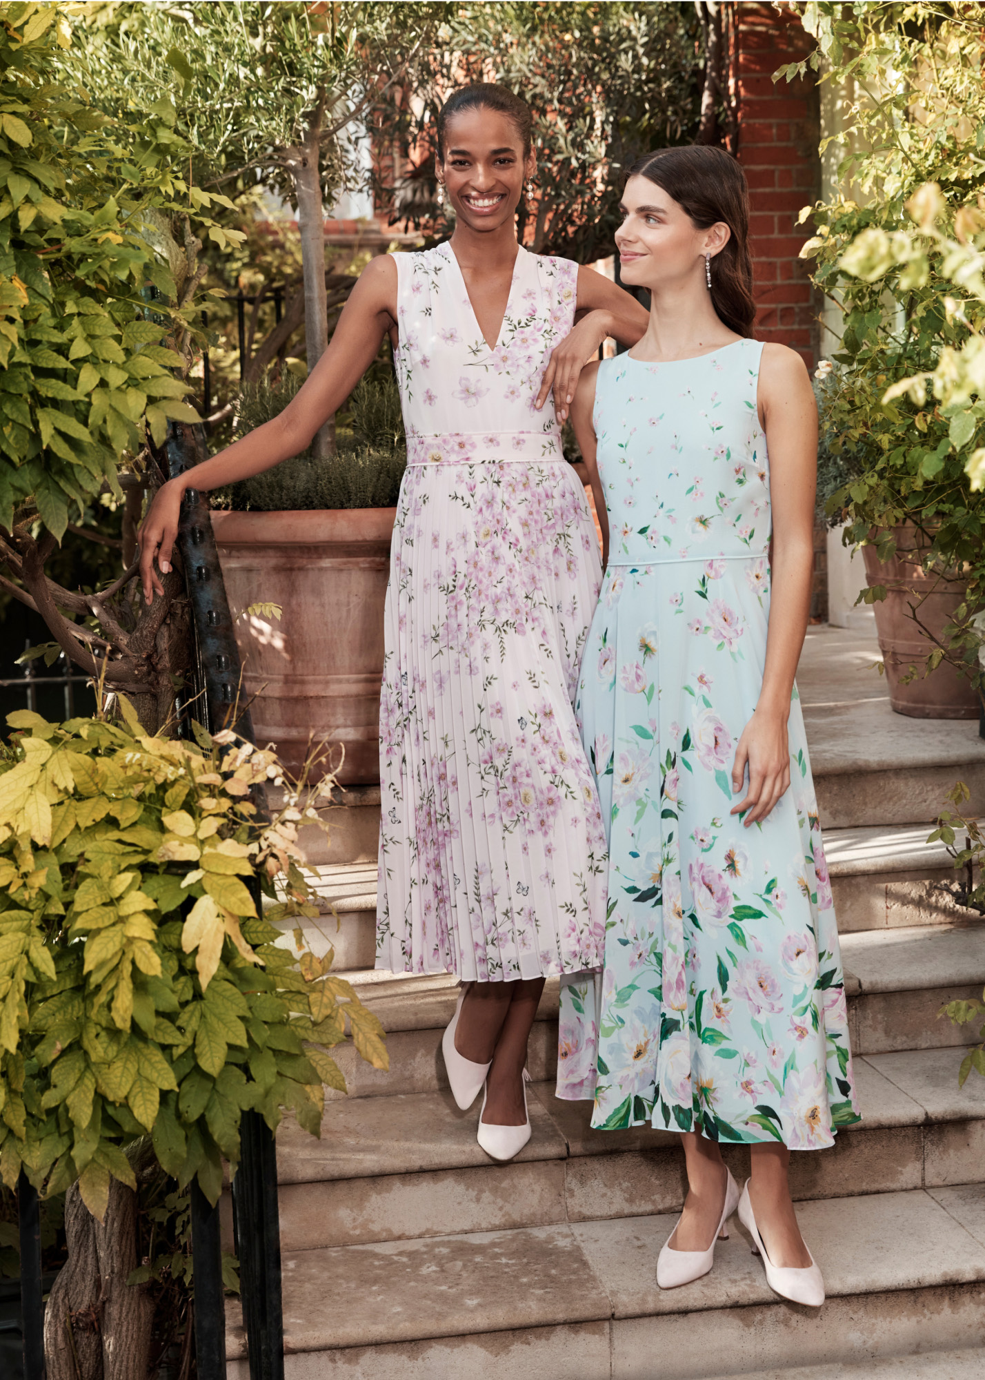
MULTIPOLYGON (((316 936, 317 937, 317 936, 316 936)), ((945 1002, 981 996, 985 987, 985 922, 862 930, 842 936, 851 1049, 882 1054, 901 1049, 966 1045, 966 1029, 938 1020, 945 1002)), ((454 1014, 457 978, 367 969, 346 973, 388 1031, 390 1070, 370 1068, 350 1046, 335 1057, 349 1096, 426 1093, 447 1087, 441 1031, 454 1014)), ((530 1074, 546 1082, 557 1071, 557 978, 549 978, 530 1036, 530 1074)), ((326 1090, 326 1098, 344 1093, 326 1090)))

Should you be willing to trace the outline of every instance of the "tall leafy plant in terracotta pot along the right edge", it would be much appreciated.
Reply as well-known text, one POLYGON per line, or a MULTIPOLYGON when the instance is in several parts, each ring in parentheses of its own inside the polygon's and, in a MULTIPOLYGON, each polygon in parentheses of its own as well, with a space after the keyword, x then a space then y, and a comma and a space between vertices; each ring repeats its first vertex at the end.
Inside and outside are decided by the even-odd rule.
POLYGON ((811 63, 826 59, 822 80, 840 88, 833 138, 847 156, 844 190, 813 208, 817 233, 802 253, 817 258, 814 282, 840 315, 821 421, 835 454, 858 465, 832 509, 865 551, 894 708, 975 718, 985 22, 974 7, 933 21, 917 10, 913 25, 884 6, 821 3, 803 15, 818 40, 811 63))

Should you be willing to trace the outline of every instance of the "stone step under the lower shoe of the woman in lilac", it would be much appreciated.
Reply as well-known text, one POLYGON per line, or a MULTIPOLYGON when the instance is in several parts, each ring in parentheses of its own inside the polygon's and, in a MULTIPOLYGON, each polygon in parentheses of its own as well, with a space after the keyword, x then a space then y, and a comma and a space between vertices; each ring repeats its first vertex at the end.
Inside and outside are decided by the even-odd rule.
MULTIPOLYGON (((835 1147, 795 1155, 796 1201, 985 1180, 985 1079, 957 1086, 955 1050, 876 1054, 855 1063, 862 1123, 835 1147)), ((321 1138, 287 1122, 277 1138, 286 1250, 564 1221, 679 1212, 680 1137, 635 1127, 592 1130, 590 1103, 534 1083, 533 1136, 494 1165, 476 1141, 479 1107, 450 1093, 356 1098, 326 1108, 321 1138)), ((737 1181, 744 1147, 724 1147, 737 1181)))

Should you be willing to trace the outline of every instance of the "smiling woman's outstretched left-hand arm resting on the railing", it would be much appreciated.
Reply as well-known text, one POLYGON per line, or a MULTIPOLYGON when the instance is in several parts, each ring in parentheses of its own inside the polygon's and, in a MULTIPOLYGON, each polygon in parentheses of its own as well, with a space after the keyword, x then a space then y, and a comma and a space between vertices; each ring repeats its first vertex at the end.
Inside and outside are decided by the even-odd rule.
POLYGON ((250 479, 309 446, 377 357, 384 335, 396 322, 396 264, 389 254, 371 259, 349 294, 328 349, 284 411, 157 490, 141 527, 141 582, 148 603, 153 591, 164 592, 155 558, 161 571, 171 569, 185 490, 208 491, 237 479, 250 479))

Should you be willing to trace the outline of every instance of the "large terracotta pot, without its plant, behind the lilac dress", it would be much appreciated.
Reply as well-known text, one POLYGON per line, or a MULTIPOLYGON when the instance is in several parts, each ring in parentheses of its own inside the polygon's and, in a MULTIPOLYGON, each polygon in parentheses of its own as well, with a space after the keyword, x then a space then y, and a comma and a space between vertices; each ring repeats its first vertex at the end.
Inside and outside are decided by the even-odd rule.
MULTIPOLYGON (((396 508, 214 512, 257 738, 297 770, 313 742, 345 748, 339 781, 379 781, 384 599, 396 508)), ((338 756, 338 755, 337 755, 338 756)))

